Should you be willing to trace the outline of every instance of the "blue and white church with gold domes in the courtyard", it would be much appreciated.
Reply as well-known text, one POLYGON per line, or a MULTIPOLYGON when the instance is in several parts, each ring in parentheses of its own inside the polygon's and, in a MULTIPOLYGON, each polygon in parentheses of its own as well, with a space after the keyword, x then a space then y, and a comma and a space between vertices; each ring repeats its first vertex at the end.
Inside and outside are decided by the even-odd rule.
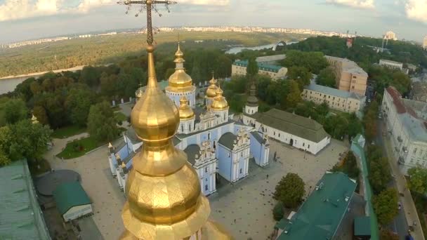
MULTIPOLYGON (((191 76, 185 72, 185 60, 179 45, 175 57, 176 71, 169 77, 169 86, 165 88, 166 95, 178 107, 180 116, 173 144, 188 155, 188 161, 199 175, 202 192, 205 195, 216 192, 218 175, 229 182, 246 177, 252 158, 259 166, 268 165, 270 144, 267 134, 258 132, 251 124, 233 120, 223 90, 217 86, 214 78, 206 89, 204 106, 197 106, 196 87, 192 84, 191 76)), ((136 91, 137 100, 142 91, 141 88, 136 91)), ((250 104, 253 106, 254 101, 250 104)), ((133 156, 142 144, 133 128, 129 128, 119 145, 109 145, 110 170, 117 177, 121 189, 126 189, 133 156)))

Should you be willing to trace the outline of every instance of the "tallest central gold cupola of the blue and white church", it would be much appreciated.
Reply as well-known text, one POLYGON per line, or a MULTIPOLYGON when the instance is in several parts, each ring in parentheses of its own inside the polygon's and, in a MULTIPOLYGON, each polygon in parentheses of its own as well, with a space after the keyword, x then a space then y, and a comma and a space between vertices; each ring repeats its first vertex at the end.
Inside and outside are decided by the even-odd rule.
POLYGON ((180 50, 180 46, 178 44, 178 50, 175 53, 175 60, 173 60, 173 62, 176 63, 175 72, 169 76, 169 85, 166 87, 166 90, 169 92, 182 93, 192 90, 192 79, 191 76, 185 72, 185 60, 183 57, 184 54, 180 50))

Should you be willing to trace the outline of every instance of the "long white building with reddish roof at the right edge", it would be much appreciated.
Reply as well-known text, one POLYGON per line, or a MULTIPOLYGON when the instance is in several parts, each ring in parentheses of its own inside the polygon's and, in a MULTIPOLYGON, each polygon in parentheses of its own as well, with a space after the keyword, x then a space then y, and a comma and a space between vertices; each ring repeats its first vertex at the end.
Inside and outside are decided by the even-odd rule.
POLYGON ((381 105, 393 153, 403 173, 414 166, 427 167, 427 103, 402 99, 386 88, 381 105))

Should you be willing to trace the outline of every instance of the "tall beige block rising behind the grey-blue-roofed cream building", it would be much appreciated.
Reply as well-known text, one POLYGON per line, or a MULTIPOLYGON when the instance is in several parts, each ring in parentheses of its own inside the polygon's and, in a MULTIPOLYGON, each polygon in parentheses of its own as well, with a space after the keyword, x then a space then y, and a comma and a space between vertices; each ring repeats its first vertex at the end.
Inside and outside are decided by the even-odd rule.
POLYGON ((339 90, 364 95, 368 74, 355 62, 346 58, 325 56, 329 65, 334 69, 336 86, 339 90))

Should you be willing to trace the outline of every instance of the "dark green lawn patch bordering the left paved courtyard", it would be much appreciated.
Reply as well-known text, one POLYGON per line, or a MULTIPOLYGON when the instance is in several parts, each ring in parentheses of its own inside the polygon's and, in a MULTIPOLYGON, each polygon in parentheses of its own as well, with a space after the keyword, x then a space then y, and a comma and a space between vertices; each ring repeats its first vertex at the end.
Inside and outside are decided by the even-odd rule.
POLYGON ((79 156, 83 156, 86 152, 89 152, 96 147, 103 145, 102 143, 96 143, 95 139, 88 137, 80 140, 74 140, 67 143, 63 152, 60 152, 58 155, 59 158, 64 159, 74 159, 79 156))

